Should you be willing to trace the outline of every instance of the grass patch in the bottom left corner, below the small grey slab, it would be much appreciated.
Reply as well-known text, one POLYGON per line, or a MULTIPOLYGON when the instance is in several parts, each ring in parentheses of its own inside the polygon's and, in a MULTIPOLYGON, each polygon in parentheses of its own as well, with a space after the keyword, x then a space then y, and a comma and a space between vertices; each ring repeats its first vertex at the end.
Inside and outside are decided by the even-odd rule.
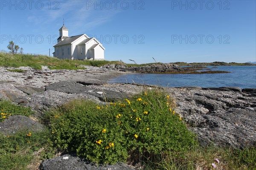
POLYGON ((0 134, 0 170, 37 169, 42 159, 52 158, 57 152, 51 139, 49 130, 18 132, 12 136, 0 134))

